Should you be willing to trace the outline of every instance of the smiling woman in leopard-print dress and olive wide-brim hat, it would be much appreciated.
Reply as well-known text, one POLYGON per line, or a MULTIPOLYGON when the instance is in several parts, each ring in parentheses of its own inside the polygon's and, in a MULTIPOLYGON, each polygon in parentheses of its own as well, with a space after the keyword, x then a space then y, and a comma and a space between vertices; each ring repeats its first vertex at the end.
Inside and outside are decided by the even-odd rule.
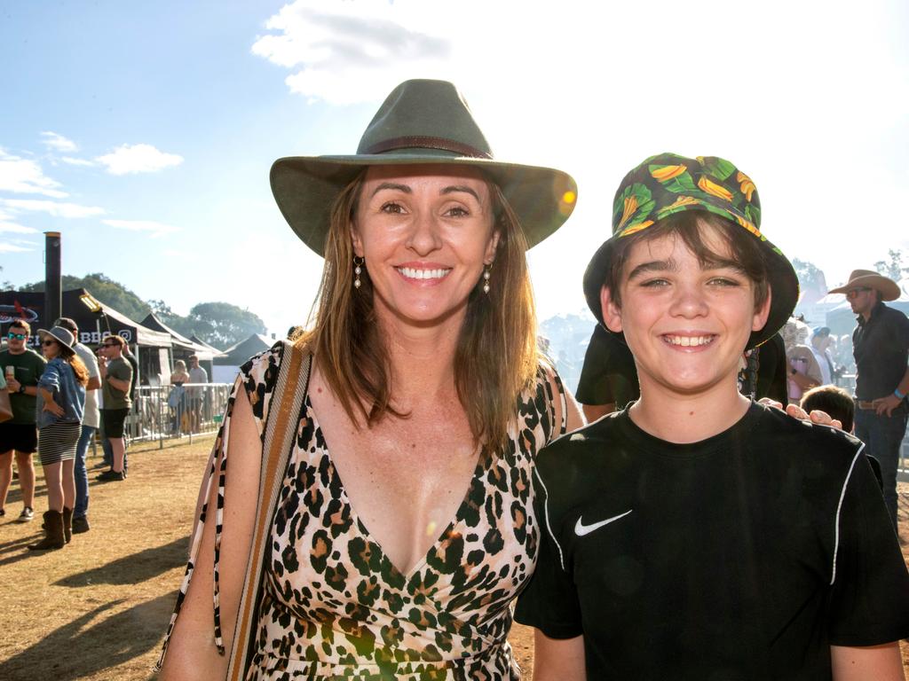
MULTIPOLYGON (((582 422, 539 359, 524 251, 571 213, 574 181, 494 162, 437 81, 395 88, 355 156, 280 159, 271 181, 325 270, 295 341, 311 378, 231 677, 516 679, 506 637, 539 537, 534 455, 582 422)), ((282 359, 279 345, 247 362, 235 386, 163 679, 225 676, 216 646, 237 621, 282 359)))

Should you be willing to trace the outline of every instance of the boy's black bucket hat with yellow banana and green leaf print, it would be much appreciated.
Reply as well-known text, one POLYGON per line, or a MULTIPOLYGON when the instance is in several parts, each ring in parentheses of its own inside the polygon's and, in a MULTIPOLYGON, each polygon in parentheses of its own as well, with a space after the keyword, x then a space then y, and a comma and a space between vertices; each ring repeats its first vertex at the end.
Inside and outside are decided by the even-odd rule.
POLYGON ((783 252, 761 233, 761 202, 752 179, 717 156, 686 158, 660 153, 624 176, 613 202, 613 234, 594 253, 584 272, 584 296, 590 310, 605 327, 600 290, 618 240, 683 211, 720 215, 760 242, 771 291, 770 313, 764 328, 751 334, 746 347, 755 348, 769 340, 798 302, 798 277, 783 252))

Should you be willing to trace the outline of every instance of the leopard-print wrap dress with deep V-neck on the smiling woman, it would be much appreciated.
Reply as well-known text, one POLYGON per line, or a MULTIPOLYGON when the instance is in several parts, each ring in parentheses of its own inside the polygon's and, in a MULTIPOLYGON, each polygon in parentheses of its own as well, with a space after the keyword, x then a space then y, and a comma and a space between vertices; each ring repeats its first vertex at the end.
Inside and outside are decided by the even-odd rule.
MULTIPOLYGON (((235 386, 260 433, 278 361, 275 350, 250 360, 235 386)), ((507 447, 477 464, 454 520, 402 574, 351 508, 307 399, 275 508, 247 681, 520 679, 507 635, 539 540, 531 470, 536 452, 564 434, 566 412, 561 381, 541 365, 507 447)), ((225 430, 229 420, 228 408, 225 430)), ((216 620, 217 600, 215 591, 216 620)))

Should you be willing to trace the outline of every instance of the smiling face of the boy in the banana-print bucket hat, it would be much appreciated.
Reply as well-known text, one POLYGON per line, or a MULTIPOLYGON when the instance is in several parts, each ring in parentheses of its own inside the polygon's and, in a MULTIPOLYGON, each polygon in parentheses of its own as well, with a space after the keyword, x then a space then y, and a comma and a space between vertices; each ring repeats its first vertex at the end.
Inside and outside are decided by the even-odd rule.
MULTIPOLYGON (((730 258, 722 236, 700 223, 705 245, 730 258)), ((636 242, 625 262, 621 307, 603 290, 604 321, 624 331, 642 396, 697 396, 714 388, 737 394, 739 362, 752 331, 764 327, 769 299, 754 309, 753 282, 731 260, 702 263, 669 234, 636 242)))

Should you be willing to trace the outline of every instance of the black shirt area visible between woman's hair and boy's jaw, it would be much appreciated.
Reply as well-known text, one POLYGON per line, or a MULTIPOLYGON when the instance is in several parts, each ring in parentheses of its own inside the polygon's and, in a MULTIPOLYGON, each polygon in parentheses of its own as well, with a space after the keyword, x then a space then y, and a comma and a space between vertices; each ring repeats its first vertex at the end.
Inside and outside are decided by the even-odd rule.
POLYGON ((617 410, 641 397, 631 350, 599 324, 587 344, 574 397, 581 404, 614 404, 617 410))

